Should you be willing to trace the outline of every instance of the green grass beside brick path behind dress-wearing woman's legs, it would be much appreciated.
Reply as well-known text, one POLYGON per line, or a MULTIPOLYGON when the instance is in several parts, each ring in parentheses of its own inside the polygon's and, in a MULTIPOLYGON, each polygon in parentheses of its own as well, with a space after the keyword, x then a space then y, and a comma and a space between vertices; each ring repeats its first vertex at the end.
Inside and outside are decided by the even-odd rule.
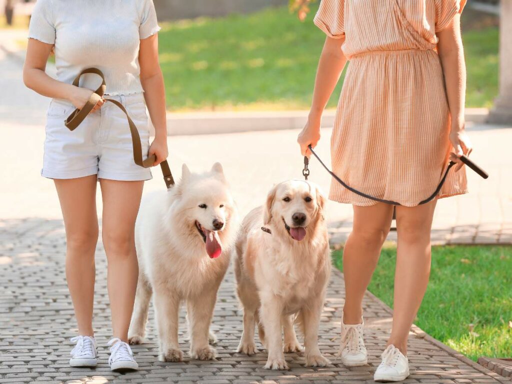
MULTIPOLYGON (((343 270, 343 250, 334 253, 343 270)), ((396 248, 382 250, 369 290, 393 306, 396 248)), ((443 246, 432 250, 429 288, 415 323, 477 360, 512 356, 512 247, 443 246)))

